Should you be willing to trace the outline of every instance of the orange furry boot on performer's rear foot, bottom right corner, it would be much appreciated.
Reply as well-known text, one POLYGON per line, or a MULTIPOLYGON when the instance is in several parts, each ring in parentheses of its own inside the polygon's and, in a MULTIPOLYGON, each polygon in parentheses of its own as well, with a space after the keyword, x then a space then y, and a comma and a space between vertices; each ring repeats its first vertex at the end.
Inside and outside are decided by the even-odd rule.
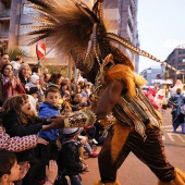
POLYGON ((158 185, 185 185, 185 173, 175 168, 175 178, 169 183, 159 181, 158 185))

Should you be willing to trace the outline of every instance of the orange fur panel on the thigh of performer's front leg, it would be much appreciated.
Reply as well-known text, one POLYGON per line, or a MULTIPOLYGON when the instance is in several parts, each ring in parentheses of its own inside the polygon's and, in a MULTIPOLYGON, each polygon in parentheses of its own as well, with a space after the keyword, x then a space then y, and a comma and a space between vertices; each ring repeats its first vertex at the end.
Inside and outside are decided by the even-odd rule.
POLYGON ((111 140, 111 157, 113 161, 116 160, 133 128, 134 127, 122 126, 119 123, 114 124, 114 134, 111 140))

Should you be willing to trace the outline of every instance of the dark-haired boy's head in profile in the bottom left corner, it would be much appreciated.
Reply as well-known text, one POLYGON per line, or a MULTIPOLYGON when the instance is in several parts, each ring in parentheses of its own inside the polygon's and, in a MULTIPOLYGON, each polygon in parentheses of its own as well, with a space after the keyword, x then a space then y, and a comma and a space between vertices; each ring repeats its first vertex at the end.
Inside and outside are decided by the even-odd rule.
POLYGON ((16 156, 8 150, 0 150, 0 184, 13 185, 20 178, 20 165, 16 156))

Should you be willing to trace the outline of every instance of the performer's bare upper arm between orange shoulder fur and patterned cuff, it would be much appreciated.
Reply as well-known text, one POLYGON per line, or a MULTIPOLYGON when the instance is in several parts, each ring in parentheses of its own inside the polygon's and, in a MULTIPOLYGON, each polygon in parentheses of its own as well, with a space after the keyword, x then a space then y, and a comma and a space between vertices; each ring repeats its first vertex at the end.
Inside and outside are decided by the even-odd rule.
POLYGON ((102 91, 97 107, 94 109, 97 120, 102 120, 112 110, 123 91, 124 84, 119 81, 109 82, 106 89, 102 91))

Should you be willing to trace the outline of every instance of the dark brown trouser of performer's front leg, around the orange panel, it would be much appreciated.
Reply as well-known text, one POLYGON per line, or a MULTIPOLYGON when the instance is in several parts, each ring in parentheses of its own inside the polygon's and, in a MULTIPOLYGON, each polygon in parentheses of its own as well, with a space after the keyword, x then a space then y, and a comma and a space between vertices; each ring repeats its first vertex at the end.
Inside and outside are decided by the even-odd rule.
POLYGON ((101 151, 98 156, 98 163, 99 163, 99 171, 101 176, 101 182, 107 185, 107 183, 114 183, 116 182, 116 172, 118 169, 121 166, 123 161, 130 153, 130 150, 122 150, 119 155, 118 160, 112 162, 111 160, 111 140, 113 136, 113 130, 109 131, 109 134, 102 145, 101 151))

